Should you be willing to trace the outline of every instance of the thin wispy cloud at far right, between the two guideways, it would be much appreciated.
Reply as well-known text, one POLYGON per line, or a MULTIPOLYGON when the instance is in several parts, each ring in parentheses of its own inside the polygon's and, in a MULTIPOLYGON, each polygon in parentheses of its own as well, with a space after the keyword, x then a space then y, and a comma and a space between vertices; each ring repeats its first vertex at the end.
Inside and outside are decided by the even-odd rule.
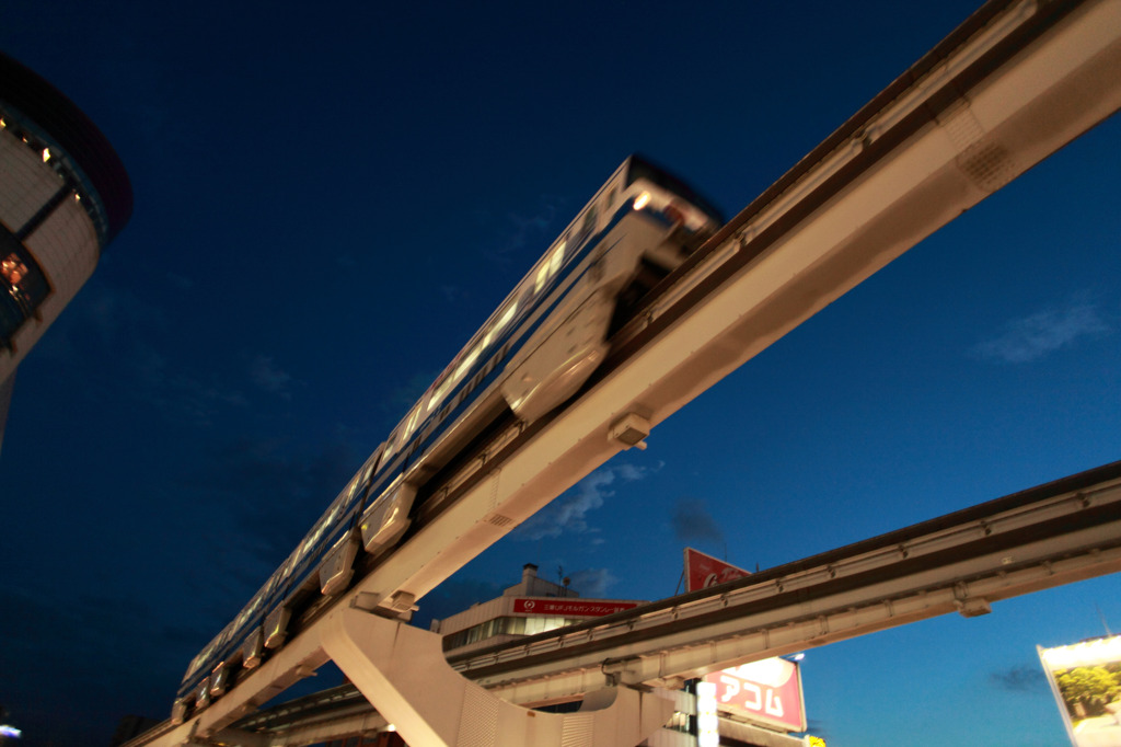
POLYGON ((1000 334, 979 343, 973 352, 989 360, 1028 363, 1081 338, 1110 331, 1096 304, 1075 299, 1065 307, 1047 308, 1009 322, 1000 334))

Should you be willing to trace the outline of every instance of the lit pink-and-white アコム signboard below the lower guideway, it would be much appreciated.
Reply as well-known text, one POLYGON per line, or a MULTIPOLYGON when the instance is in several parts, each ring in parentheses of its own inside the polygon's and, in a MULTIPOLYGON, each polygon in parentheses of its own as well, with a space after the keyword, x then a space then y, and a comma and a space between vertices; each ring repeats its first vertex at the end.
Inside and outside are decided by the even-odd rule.
POLYGON ((806 730, 802 673, 794 662, 766 658, 712 672, 705 675, 704 681, 716 685, 719 710, 732 711, 787 731, 806 730))

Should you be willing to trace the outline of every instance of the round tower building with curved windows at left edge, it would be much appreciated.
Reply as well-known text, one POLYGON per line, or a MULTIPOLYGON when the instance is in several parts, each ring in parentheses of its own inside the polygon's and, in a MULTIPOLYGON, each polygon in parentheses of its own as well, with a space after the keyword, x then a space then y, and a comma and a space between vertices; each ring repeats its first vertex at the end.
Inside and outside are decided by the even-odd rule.
POLYGON ((0 54, 0 443, 16 368, 131 214, 132 186, 105 136, 0 54))

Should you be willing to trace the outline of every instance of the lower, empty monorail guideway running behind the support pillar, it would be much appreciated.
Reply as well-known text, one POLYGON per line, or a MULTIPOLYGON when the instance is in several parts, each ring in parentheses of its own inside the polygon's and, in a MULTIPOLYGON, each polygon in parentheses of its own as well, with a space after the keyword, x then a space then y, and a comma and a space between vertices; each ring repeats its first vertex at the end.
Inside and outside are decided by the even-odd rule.
MULTIPOLYGON (((454 656, 513 703, 610 683, 686 677, 1121 570, 1121 462, 889 532, 719 587, 454 656)), ((686 704, 687 707, 687 704, 686 704)), ((237 723, 270 747, 342 740, 388 721, 352 685, 237 723)), ((243 737, 244 738, 244 737, 243 737)), ((252 741, 247 739, 247 741, 252 741)))

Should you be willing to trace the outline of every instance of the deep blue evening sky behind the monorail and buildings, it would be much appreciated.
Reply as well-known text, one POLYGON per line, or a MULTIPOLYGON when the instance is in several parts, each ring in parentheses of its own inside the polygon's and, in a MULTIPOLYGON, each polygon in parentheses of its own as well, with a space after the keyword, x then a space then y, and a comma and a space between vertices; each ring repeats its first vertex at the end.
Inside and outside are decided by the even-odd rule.
MULTIPOLYGON (((289 552, 612 169, 734 213, 974 1, 6 3, 136 212, 21 366, 0 454, 0 703, 28 744, 163 717, 289 552)), ((1121 455, 1114 118, 750 361, 421 601, 525 562, 674 593, 1121 455)), ((1118 577, 810 652, 831 747, 1055 745, 1035 645, 1118 577)))

